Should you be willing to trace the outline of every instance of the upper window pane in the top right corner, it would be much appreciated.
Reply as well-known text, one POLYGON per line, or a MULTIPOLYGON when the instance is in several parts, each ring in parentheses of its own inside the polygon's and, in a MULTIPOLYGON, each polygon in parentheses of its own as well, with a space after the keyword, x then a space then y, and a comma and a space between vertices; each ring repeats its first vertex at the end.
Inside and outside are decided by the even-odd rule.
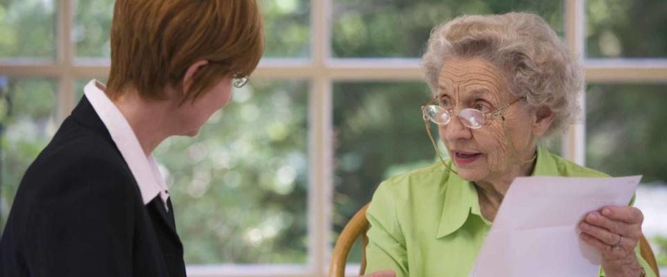
POLYGON ((587 0, 588 57, 667 57, 667 1, 587 0))

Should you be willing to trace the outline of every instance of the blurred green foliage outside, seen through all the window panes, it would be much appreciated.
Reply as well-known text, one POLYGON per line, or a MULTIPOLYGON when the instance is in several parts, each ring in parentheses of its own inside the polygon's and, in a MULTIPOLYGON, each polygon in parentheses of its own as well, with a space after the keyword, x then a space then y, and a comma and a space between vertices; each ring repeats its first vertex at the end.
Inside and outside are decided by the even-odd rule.
MULTIPOLYGON (((311 57, 311 1, 259 2, 266 21, 265 56, 311 57)), ((113 0, 75 3, 76 57, 108 58, 113 0)), ((535 12, 563 35, 563 5, 332 0, 331 55, 417 58, 433 26, 463 14, 535 12)), ((0 59, 55 59, 55 6, 53 0, 0 0, 0 59)), ((588 0, 586 57, 667 57, 665 14, 664 0, 588 0)), ((77 101, 85 82, 77 82, 77 101)), ((646 191, 667 192, 666 89, 667 84, 589 84, 587 166, 616 176, 642 174, 646 191)), ((319 109, 308 106, 309 91, 309 80, 254 78, 236 90, 234 102, 217 112, 196 139, 169 139, 156 150, 172 190, 188 264, 308 261, 308 111, 319 109)), ((60 124, 58 93, 57 79, 0 76, 0 230, 25 168, 60 124)), ((332 94, 331 244, 380 181, 436 159, 419 109, 429 96, 424 82, 334 80, 332 94)), ((549 147, 559 152, 559 138, 549 147)), ((667 202, 667 193, 661 195, 655 205, 666 208, 661 203, 667 202)), ((663 221, 647 218, 647 226, 654 227, 645 231, 651 231, 654 251, 667 266, 663 221)), ((359 260, 359 251, 352 259, 359 260)))

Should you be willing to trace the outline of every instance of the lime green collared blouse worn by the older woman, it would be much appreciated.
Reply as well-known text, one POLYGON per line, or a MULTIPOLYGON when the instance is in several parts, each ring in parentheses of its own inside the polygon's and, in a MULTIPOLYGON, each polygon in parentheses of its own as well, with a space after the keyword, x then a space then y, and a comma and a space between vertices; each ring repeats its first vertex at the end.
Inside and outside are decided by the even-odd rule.
MULTIPOLYGON (((542 146, 533 175, 609 177, 542 146)), ((366 212, 371 224, 366 272, 393 269, 397 277, 468 276, 491 229, 491 222, 481 216, 474 186, 440 162, 383 181, 366 212)), ((647 276, 654 276, 639 256, 639 247, 636 252, 647 276)))

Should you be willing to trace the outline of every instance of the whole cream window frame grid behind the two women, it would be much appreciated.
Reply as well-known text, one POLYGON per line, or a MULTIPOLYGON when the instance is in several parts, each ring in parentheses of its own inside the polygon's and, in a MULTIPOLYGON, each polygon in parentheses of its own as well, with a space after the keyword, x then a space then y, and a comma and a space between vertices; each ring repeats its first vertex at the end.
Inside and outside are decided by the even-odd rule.
MULTIPOLYGON (((22 62, 0 61, 0 75, 10 78, 46 77, 58 80, 58 122, 74 109, 75 82, 81 78, 107 76, 109 61, 76 59, 72 42, 74 1, 60 0, 57 7, 56 60, 22 62)), ((188 266, 188 276, 327 276, 331 254, 331 213, 333 204, 331 149, 331 88, 334 82, 347 80, 422 80, 417 58, 406 59, 334 59, 331 58, 331 2, 311 0, 311 57, 300 59, 265 59, 254 78, 302 79, 310 86, 308 155, 308 262, 306 265, 203 265, 188 266)), ((586 45, 584 0, 564 0, 565 35, 568 46, 584 55, 586 45)), ((657 82, 667 83, 667 59, 583 59, 586 82, 657 82)), ((582 93, 580 101, 584 104, 582 93)), ((586 107, 582 105, 582 107, 586 107)), ((585 119, 585 118, 584 118, 585 119)), ((573 125, 563 140, 563 156, 584 164, 586 125, 573 125)), ((352 266, 349 276, 355 276, 352 266)))

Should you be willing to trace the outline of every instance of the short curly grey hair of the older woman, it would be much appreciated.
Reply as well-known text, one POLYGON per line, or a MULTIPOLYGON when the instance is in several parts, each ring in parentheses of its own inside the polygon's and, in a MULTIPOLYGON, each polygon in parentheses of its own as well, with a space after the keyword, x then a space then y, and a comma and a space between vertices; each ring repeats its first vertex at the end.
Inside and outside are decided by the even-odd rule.
POLYGON ((422 71, 431 92, 447 59, 478 57, 497 66, 511 93, 525 97, 529 107, 547 107, 554 121, 546 136, 561 133, 579 116, 584 74, 579 60, 537 15, 464 15, 431 31, 422 71))

